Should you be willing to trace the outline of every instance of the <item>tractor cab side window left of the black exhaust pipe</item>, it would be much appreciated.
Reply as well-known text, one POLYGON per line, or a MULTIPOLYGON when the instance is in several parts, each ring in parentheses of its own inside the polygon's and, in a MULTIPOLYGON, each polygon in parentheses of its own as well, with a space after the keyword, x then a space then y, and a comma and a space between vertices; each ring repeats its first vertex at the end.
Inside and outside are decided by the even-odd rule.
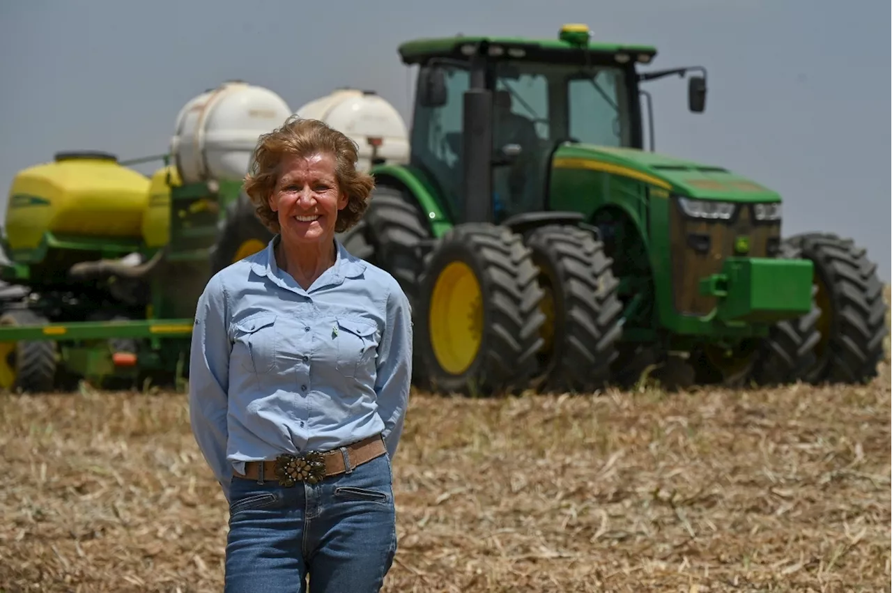
POLYGON ((412 161, 424 169, 440 185, 448 207, 455 215, 462 215, 461 195, 461 131, 464 93, 470 75, 464 68, 436 63, 427 68, 443 71, 446 102, 439 107, 416 104, 412 126, 412 161))

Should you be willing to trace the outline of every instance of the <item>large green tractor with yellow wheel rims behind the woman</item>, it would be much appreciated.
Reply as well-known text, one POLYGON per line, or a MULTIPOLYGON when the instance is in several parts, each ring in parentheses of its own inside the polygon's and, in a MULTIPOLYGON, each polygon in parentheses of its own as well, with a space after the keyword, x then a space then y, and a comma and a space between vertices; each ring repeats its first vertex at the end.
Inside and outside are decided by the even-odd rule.
POLYGON ((594 43, 583 25, 399 53, 419 66, 410 159, 373 169, 343 241, 408 293, 417 383, 591 391, 648 354, 681 354, 705 383, 877 374, 886 303, 863 249, 783 239, 778 194, 645 150, 642 83, 700 70, 699 112, 704 70, 640 72, 653 47, 594 43))

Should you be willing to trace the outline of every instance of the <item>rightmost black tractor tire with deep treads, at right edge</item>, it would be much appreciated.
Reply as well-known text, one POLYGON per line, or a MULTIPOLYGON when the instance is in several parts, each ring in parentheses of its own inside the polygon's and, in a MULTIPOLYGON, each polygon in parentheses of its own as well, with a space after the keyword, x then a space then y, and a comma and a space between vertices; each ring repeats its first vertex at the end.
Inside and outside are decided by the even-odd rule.
POLYGON ((883 284, 866 250, 829 233, 789 237, 801 257, 814 263, 816 301, 821 308, 809 383, 870 383, 879 374, 888 335, 883 284))

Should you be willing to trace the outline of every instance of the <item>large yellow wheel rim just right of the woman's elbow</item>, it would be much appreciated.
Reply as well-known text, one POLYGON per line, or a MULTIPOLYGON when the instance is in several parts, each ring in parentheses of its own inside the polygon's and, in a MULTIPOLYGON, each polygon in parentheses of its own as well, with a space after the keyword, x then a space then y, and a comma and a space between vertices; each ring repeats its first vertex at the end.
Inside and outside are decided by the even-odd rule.
POLYGON ((450 263, 437 278, 428 326, 440 367, 452 375, 467 371, 483 337, 483 292, 466 263, 450 263))

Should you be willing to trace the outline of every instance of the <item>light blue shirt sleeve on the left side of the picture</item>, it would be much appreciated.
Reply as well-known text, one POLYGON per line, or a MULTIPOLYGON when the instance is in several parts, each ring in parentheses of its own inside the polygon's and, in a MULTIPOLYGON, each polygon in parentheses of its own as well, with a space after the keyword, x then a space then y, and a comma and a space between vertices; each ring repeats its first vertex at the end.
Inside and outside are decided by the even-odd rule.
POLYGON ((229 501, 232 471, 227 463, 230 343, 227 295, 211 278, 195 310, 189 357, 189 420, 195 441, 229 501))

